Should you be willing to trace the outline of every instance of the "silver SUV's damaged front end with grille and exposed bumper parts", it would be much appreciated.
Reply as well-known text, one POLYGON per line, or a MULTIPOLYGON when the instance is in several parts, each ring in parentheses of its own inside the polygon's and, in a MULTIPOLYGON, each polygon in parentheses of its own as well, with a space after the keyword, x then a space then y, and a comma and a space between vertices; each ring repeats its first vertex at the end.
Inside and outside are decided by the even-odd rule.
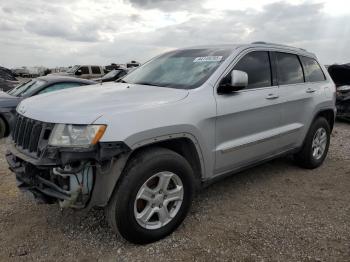
POLYGON ((106 205, 130 149, 118 142, 88 148, 51 146, 54 126, 17 115, 6 159, 18 187, 62 208, 106 205))

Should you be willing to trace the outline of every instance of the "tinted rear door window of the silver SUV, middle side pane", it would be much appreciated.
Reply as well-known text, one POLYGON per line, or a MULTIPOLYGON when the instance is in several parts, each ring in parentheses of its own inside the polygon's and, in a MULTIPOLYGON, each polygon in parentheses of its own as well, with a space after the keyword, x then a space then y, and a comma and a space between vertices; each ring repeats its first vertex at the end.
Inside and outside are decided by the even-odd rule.
POLYGON ((278 83, 280 85, 304 82, 303 69, 297 55, 276 53, 278 67, 278 83))

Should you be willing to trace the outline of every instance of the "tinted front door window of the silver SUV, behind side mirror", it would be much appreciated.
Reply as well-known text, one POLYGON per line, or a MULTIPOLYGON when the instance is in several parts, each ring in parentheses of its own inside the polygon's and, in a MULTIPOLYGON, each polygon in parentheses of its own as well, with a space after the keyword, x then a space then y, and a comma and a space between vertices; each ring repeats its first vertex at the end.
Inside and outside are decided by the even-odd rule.
POLYGON ((271 86, 271 66, 268 52, 251 52, 239 60, 234 69, 248 74, 247 89, 271 86))

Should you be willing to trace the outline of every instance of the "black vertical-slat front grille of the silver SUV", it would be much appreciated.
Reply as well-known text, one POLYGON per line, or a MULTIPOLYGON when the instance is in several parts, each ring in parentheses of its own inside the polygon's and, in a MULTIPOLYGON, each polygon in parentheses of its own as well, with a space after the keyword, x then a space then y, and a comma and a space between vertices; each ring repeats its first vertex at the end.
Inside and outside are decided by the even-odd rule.
POLYGON ((15 146, 25 153, 40 156, 47 145, 53 124, 33 120, 17 114, 12 130, 12 140, 15 146))

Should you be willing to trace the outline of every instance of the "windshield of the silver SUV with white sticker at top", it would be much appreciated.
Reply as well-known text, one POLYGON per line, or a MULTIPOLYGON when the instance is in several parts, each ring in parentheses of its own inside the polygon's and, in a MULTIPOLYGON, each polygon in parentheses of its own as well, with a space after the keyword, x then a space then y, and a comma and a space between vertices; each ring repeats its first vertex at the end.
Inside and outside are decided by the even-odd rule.
POLYGON ((202 85, 229 56, 228 49, 187 49, 161 55, 138 67, 122 82, 192 89, 202 85))

